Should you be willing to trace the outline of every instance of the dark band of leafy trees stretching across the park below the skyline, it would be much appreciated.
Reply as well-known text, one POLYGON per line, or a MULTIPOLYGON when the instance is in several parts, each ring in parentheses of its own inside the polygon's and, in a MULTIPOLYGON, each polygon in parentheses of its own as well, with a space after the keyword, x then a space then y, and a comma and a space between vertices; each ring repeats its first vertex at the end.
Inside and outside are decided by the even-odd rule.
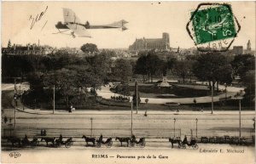
POLYGON ((230 58, 224 54, 207 53, 177 59, 168 53, 166 58, 160 58, 163 53, 148 51, 140 52, 136 61, 113 61, 111 57, 116 56, 113 51, 100 53, 95 44, 84 44, 81 49, 85 54, 94 55, 79 57, 65 50, 47 56, 3 54, 2 77, 26 78, 35 96, 43 97, 45 88, 55 86, 60 99, 67 105, 86 100, 88 88, 95 90, 113 80, 127 83, 136 74, 143 76, 143 82, 153 82, 154 76, 166 76, 167 71, 180 76, 183 82, 185 78, 195 76, 207 81, 209 88, 218 83, 230 85, 235 76, 240 76, 250 99, 254 99, 255 57, 251 54, 230 58))

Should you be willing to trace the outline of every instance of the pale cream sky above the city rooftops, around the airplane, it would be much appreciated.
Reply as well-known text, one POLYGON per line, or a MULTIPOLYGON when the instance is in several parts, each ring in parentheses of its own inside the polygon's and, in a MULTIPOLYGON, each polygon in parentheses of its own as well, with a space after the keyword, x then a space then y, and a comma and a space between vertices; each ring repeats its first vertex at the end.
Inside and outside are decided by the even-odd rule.
MULTIPOLYGON (((95 43, 98 48, 128 48, 136 38, 160 38, 163 32, 170 35, 172 48, 193 48, 194 42, 186 31, 190 12, 200 2, 3 2, 2 46, 12 43, 26 45, 38 43, 52 47, 80 48, 84 43, 95 43), (33 18, 45 14, 30 29, 33 18), (88 30, 92 38, 75 37, 57 32, 55 24, 63 22, 62 8, 71 8, 82 21, 90 25, 104 25, 118 20, 129 23, 126 31, 117 29, 88 30)), ((232 46, 246 48, 250 39, 255 49, 255 2, 228 2, 241 25, 232 46)), ((231 46, 231 47, 232 47, 231 46)))

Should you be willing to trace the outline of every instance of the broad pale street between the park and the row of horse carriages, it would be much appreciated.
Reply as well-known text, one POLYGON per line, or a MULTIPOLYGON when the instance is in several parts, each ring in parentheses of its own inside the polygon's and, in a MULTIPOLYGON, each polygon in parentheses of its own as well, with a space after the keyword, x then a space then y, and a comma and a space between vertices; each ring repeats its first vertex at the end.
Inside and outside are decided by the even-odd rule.
MULTIPOLYGON (((26 110, 28 111, 28 110, 26 110)), ((31 110, 30 110, 31 111, 31 110)), ((40 110, 34 110, 40 112, 40 110)), ((106 137, 123 137, 131 135, 131 111, 127 110, 86 110, 56 112, 55 115, 49 114, 49 111, 44 111, 41 115, 29 114, 17 111, 17 135, 23 137, 39 135, 41 129, 46 129, 49 136, 73 136, 82 137, 83 134, 90 135, 90 127, 92 120, 92 135, 100 136, 102 133, 106 137)), ((157 111, 149 110, 148 116, 144 116, 144 111, 139 111, 133 114, 133 133, 137 137, 146 138, 169 138, 174 136, 174 118, 175 136, 183 137, 185 134, 190 135, 193 130, 193 135, 198 136, 238 136, 239 135, 239 116, 238 111, 215 111, 215 114, 210 114, 210 111, 157 111)), ((9 135, 9 127, 14 125, 14 109, 4 110, 3 116, 12 118, 12 126, 9 126, 9 121, 3 123, 3 135, 9 135)), ((253 135, 253 111, 241 112, 241 135, 251 137, 253 135)))

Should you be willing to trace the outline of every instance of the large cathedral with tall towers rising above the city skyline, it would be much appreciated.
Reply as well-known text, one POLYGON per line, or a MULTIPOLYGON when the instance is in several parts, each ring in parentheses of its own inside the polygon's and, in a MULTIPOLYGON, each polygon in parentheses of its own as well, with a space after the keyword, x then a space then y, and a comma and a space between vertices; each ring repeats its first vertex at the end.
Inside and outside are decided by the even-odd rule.
POLYGON ((164 32, 162 38, 141 38, 129 47, 129 51, 143 51, 155 49, 158 51, 169 51, 170 50, 170 39, 169 34, 164 32))

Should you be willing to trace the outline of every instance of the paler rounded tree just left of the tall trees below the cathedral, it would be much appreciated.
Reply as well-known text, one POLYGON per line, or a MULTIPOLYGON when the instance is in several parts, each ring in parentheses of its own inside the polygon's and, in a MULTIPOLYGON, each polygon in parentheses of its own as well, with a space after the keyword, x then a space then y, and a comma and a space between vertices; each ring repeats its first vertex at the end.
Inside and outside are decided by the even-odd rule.
POLYGON ((122 82, 128 82, 128 77, 132 75, 131 69, 130 61, 125 59, 117 59, 115 61, 113 75, 120 78, 122 82))

